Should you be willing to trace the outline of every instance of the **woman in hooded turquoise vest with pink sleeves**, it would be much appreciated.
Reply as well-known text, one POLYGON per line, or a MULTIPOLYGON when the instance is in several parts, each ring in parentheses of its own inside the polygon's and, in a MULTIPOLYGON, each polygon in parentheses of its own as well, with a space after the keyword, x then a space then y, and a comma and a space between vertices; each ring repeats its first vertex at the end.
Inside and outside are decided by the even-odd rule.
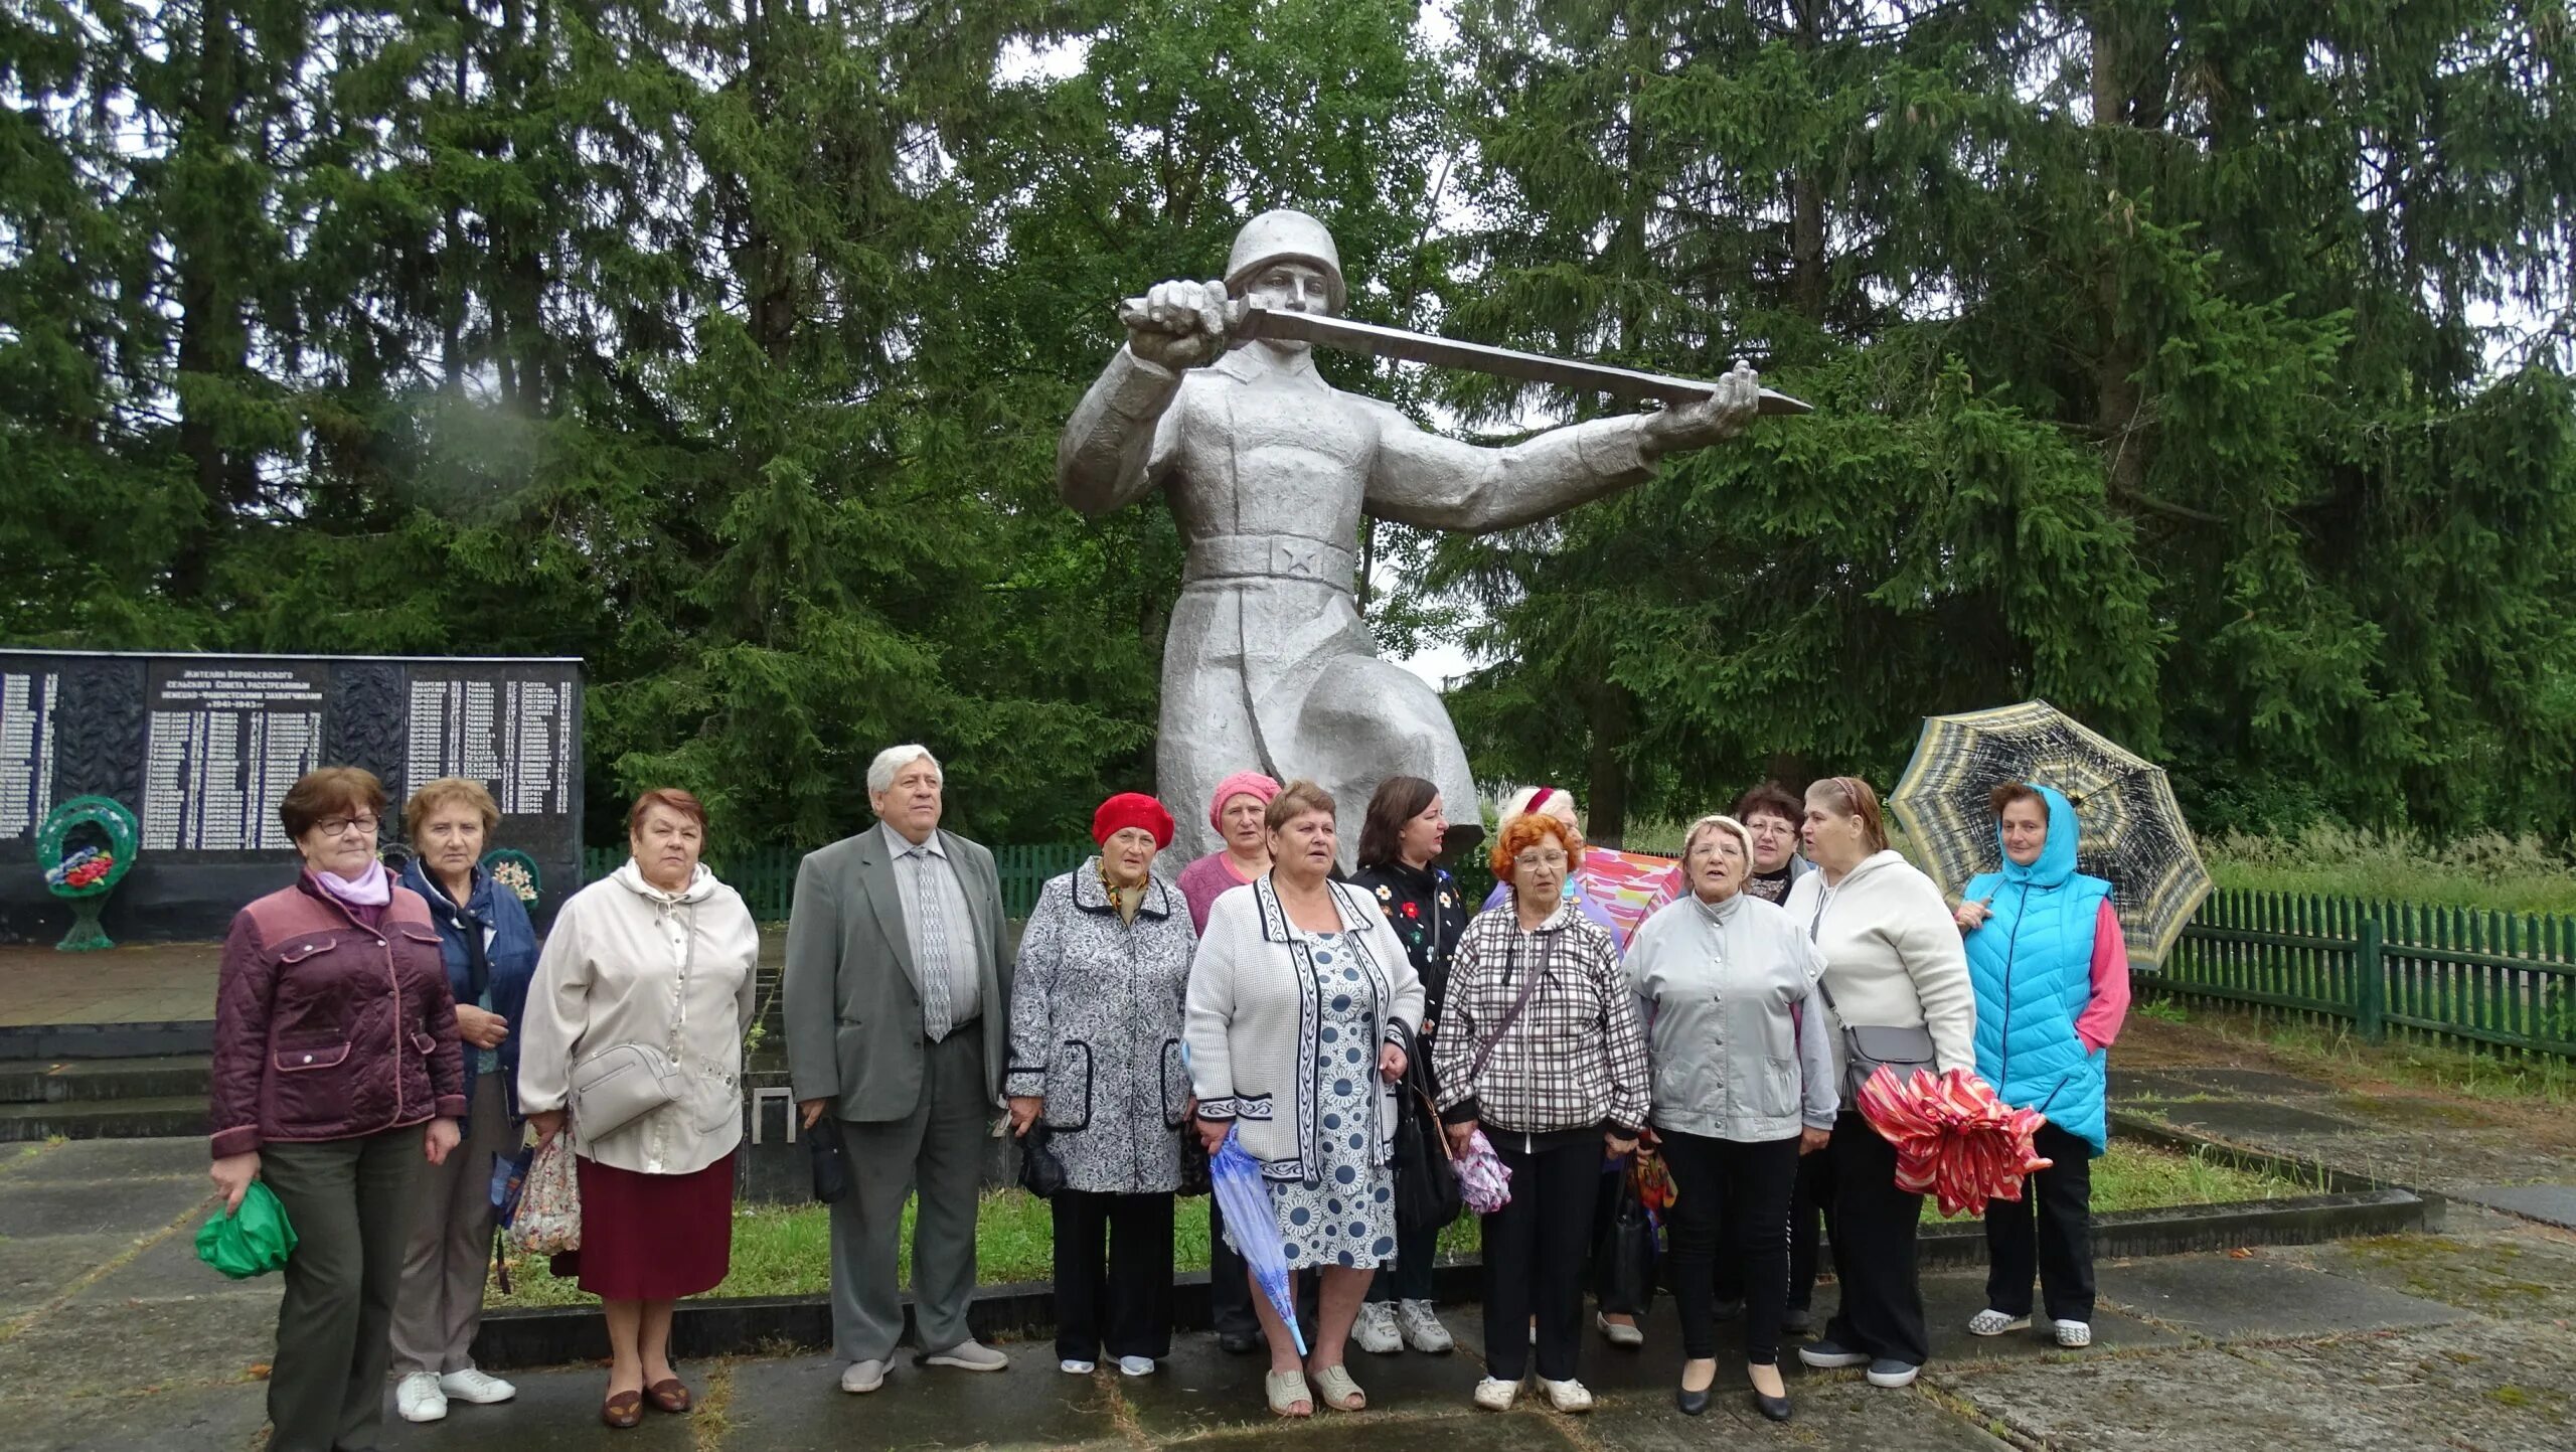
POLYGON ((1976 1071, 2038 1110, 2056 1161, 2020 1200, 1986 1205, 1986 1310, 1976 1336, 2030 1328, 2038 1274, 2058 1346, 2092 1344, 2092 1156, 2102 1153, 2110 1040, 2128 1014, 2128 945, 2110 883, 2076 873, 2076 808, 2056 788, 1994 788, 2004 870, 1968 883, 1958 927, 1976 983, 1976 1071))

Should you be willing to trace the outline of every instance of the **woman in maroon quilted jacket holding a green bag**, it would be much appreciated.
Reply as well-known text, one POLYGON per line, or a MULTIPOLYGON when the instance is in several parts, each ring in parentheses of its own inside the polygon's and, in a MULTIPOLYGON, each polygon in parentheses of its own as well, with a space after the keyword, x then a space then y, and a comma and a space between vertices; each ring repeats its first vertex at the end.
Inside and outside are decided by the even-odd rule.
POLYGON ((296 1231, 268 1372, 268 1447, 374 1447, 420 1161, 466 1112, 456 999, 428 904, 376 860, 384 785, 307 772, 278 801, 304 857, 245 906, 214 1001, 214 1182, 265 1179, 296 1231))

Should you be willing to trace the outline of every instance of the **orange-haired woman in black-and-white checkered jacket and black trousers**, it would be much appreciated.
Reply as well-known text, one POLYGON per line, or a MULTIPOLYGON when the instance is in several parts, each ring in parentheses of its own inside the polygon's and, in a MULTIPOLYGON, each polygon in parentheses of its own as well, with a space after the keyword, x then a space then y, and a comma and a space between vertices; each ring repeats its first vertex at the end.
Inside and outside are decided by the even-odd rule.
POLYGON ((1440 1120, 1461 1151, 1484 1128, 1512 1200, 1484 1218, 1484 1346, 1476 1406, 1512 1406, 1538 1321, 1538 1385, 1556 1411, 1589 1411, 1574 1380, 1584 1261, 1602 1146, 1631 1153, 1646 1122, 1646 1030, 1610 932, 1566 904, 1584 839, 1530 811, 1494 842, 1512 901, 1486 909, 1450 960, 1432 1066, 1440 1120))

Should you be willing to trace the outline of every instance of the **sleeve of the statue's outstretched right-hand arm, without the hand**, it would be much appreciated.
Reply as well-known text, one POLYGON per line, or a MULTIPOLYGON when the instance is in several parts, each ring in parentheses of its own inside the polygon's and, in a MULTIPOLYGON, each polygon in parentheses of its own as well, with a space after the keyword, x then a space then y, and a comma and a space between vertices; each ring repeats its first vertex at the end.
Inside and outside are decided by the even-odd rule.
POLYGON ((1553 427, 1507 448, 1458 443, 1383 404, 1368 512, 1481 535, 1561 515, 1654 474, 1646 417, 1553 427))

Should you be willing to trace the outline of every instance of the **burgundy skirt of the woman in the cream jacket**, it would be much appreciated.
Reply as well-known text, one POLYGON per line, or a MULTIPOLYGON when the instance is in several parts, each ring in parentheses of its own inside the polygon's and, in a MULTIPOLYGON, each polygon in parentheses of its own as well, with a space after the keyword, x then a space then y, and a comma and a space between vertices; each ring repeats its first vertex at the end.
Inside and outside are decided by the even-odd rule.
POLYGON ((734 1156, 688 1174, 636 1174, 574 1156, 582 1249, 554 1256, 556 1280, 600 1300, 680 1300, 716 1290, 734 1264, 734 1156))

